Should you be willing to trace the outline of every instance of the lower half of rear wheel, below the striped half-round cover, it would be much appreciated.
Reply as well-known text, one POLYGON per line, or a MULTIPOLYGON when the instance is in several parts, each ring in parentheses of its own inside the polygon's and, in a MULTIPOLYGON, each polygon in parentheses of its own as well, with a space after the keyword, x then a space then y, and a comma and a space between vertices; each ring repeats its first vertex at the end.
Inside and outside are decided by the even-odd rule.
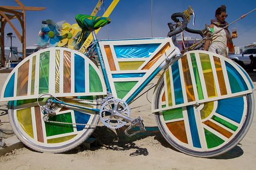
MULTIPOLYGON (((41 102, 43 105, 45 102, 41 102)), ((33 150, 60 153, 83 143, 95 130, 99 115, 84 110, 58 108, 49 121, 90 125, 57 124, 43 121, 36 100, 9 102, 9 119, 17 137, 33 150)))

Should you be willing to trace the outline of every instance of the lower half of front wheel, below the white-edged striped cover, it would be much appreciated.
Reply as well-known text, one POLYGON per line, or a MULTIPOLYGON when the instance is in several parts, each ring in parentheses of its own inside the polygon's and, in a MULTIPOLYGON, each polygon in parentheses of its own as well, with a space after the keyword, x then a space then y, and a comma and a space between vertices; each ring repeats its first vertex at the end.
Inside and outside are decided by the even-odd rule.
MULTIPOLYGON (((164 108, 164 81, 157 90, 155 108, 164 108)), ((186 105, 156 113, 164 138, 180 152, 195 157, 214 157, 241 141, 254 110, 253 94, 186 105)))

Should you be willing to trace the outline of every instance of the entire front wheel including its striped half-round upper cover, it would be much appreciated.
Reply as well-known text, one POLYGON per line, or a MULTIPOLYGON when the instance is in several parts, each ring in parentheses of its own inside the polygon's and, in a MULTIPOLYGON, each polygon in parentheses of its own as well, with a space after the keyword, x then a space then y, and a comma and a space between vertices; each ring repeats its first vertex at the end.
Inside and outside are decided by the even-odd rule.
POLYGON ((161 82, 152 111, 161 133, 181 152, 212 157, 245 136, 254 111, 253 86, 233 61, 191 51, 169 67, 161 82))

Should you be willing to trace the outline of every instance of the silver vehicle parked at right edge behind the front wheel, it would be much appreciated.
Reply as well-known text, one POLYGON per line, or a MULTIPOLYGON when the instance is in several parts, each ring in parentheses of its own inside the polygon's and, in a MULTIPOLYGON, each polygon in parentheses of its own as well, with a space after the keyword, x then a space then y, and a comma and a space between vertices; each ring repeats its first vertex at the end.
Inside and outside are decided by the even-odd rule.
POLYGON ((253 55, 253 57, 256 57, 256 47, 247 48, 241 54, 233 54, 233 55, 230 55, 229 58, 237 62, 240 66, 246 67, 246 65, 250 65, 251 63, 250 55, 253 55))

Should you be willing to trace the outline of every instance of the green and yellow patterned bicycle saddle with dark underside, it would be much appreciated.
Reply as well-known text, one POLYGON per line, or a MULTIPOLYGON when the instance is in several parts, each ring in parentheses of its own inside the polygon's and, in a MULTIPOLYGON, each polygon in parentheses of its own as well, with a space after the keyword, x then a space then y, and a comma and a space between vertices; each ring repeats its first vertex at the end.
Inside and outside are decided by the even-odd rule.
POLYGON ((111 22, 107 17, 95 17, 90 15, 78 14, 76 15, 78 25, 85 31, 97 30, 111 22))

